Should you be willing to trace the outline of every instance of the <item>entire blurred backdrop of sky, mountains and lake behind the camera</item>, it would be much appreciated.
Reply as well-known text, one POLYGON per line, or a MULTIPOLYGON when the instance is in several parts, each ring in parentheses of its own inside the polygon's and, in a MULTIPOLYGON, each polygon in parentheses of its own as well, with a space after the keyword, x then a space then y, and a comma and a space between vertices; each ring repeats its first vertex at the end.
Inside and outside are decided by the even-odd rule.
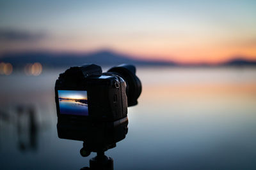
POLYGON ((80 169, 59 139, 70 66, 134 64, 115 169, 256 169, 256 1, 0 1, 1 169, 80 169))

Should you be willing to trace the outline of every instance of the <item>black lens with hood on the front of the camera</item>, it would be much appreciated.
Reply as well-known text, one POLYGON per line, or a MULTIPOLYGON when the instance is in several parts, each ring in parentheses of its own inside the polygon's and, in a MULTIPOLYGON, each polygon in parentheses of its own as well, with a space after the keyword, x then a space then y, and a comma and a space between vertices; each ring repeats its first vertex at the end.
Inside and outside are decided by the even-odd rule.
POLYGON ((112 67, 108 70, 108 73, 116 74, 124 79, 126 83, 125 93, 128 106, 138 104, 137 99, 141 94, 141 81, 135 74, 136 67, 129 64, 122 64, 112 67))

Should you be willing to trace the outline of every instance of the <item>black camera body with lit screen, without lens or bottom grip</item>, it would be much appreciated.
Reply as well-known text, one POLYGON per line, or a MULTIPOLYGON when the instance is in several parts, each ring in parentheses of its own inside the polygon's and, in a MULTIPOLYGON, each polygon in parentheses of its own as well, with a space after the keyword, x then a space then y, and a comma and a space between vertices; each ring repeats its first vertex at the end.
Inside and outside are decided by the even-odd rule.
POLYGON ((124 118, 127 116, 125 89, 126 83, 120 76, 102 73, 100 66, 70 67, 55 84, 58 118, 77 121, 124 118))

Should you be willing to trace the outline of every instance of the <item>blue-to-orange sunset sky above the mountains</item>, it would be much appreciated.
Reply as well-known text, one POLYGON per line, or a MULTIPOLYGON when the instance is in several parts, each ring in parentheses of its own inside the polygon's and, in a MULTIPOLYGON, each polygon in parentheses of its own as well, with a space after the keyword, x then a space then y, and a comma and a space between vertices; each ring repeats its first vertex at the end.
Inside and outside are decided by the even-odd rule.
POLYGON ((256 60, 255 9, 255 0, 0 0, 0 53, 108 49, 188 63, 256 60))

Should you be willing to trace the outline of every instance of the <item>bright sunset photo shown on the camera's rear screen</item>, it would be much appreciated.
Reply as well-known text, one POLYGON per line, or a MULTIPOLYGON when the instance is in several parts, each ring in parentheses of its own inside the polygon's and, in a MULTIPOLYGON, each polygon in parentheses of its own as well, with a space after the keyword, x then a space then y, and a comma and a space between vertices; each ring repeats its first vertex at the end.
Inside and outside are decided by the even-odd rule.
POLYGON ((87 91, 58 90, 60 114, 88 116, 87 91))

